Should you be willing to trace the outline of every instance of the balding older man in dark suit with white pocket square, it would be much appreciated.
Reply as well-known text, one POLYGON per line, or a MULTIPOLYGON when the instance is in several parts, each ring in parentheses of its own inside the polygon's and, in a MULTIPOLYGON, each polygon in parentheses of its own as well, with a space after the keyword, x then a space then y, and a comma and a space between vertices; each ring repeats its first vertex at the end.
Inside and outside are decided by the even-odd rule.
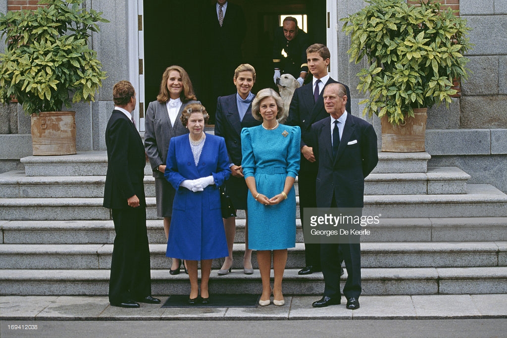
MULTIPOLYGON (((323 101, 330 116, 311 126, 313 152, 318 162, 316 194, 318 208, 363 208, 365 177, 378 163, 377 135, 373 126, 349 114, 342 84, 324 88, 323 101)), ((325 307, 340 304, 340 269, 345 261, 347 281, 343 294, 347 309, 359 308, 361 294, 361 248, 359 236, 339 243, 320 244, 324 295, 312 304, 325 307)))

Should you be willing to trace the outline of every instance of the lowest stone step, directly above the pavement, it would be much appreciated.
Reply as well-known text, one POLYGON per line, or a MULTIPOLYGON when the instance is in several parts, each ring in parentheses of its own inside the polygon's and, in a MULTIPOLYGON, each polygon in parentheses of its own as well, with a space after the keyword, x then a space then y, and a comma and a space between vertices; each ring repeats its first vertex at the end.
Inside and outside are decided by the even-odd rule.
MULTIPOLYGON (((347 273, 342 276, 342 286, 347 273)), ((169 275, 169 270, 152 270, 153 294, 188 294, 188 276, 169 275)), ((273 278, 273 273, 271 272, 273 278)), ((364 268, 361 286, 364 295, 393 294, 487 294, 507 293, 507 267, 487 268, 364 268)), ((0 270, 1 295, 107 295, 109 270, 0 270)), ((211 272, 212 294, 259 293, 261 278, 241 271, 226 275, 211 272)), ((299 276, 298 269, 286 269, 286 295, 321 295, 321 273, 299 276)))

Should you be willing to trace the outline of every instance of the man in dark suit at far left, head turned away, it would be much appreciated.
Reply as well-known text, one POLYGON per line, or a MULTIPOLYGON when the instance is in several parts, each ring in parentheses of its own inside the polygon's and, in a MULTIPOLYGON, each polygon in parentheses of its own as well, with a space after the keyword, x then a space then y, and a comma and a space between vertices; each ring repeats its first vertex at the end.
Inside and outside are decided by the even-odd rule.
POLYGON ((159 304, 151 296, 150 249, 144 199, 144 145, 132 119, 135 90, 128 81, 113 89, 115 109, 105 129, 107 174, 103 206, 112 209, 115 242, 111 260, 109 302, 122 308, 159 304))

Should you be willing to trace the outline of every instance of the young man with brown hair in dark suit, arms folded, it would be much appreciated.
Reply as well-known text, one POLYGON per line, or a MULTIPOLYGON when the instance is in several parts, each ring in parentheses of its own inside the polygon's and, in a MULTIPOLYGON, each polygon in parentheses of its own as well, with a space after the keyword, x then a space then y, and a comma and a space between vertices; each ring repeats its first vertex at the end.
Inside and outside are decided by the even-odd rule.
MULTIPOLYGON (((313 44, 306 49, 306 61, 313 79, 311 83, 294 92, 286 121, 289 126, 301 128, 301 168, 298 174, 301 219, 303 219, 304 208, 316 208, 317 163, 312 147, 308 144, 311 139, 310 127, 312 123, 329 116, 324 109, 322 90, 331 83, 337 83, 328 74, 330 58, 329 49, 322 44, 313 44)), ((345 86, 345 89, 347 97, 350 97, 348 87, 345 86)), ((347 102, 347 111, 350 112, 349 102, 347 102)), ((299 275, 309 275, 321 271, 319 244, 305 244, 305 262, 306 266, 298 272, 299 275)))

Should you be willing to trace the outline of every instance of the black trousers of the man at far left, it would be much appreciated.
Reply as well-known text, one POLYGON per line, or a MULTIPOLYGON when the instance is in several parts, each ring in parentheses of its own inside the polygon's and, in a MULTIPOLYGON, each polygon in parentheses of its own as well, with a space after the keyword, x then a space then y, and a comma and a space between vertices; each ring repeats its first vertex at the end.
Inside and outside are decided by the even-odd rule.
POLYGON ((113 209, 115 242, 109 302, 118 304, 151 295, 150 248, 146 207, 113 209))

